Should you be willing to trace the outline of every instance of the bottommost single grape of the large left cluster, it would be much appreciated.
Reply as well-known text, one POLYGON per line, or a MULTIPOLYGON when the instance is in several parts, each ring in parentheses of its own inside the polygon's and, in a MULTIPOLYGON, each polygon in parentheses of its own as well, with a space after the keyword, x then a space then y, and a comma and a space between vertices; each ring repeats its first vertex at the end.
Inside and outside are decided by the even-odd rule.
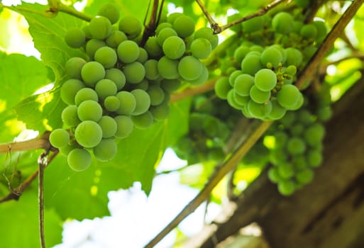
POLYGON ((74 171, 84 171, 91 164, 91 154, 87 150, 75 148, 67 155, 67 163, 74 171))

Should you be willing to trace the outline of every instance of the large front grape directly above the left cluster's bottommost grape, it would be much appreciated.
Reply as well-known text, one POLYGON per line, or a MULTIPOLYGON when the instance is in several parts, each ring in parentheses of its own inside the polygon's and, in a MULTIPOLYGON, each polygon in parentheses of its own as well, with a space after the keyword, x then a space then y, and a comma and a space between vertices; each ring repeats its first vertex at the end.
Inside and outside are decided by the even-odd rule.
POLYGON ((77 125, 75 140, 86 148, 96 147, 102 139, 102 130, 99 124, 93 120, 84 120, 77 125))

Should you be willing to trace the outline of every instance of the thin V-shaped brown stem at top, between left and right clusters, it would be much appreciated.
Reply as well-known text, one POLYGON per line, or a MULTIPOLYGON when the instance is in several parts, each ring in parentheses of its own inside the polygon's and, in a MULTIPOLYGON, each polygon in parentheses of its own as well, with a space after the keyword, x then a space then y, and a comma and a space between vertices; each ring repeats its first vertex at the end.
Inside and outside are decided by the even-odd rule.
POLYGON ((204 6, 204 4, 202 4, 201 0, 196 0, 196 1, 197 1, 197 4, 199 4, 199 7, 202 9, 202 12, 204 12, 204 15, 206 16, 207 20, 209 21, 211 28, 214 30, 214 33, 218 34, 228 28, 231 28, 232 26, 236 26, 237 24, 242 23, 243 21, 248 21, 249 19, 255 18, 257 16, 263 16, 263 15, 265 15, 265 13, 267 13, 271 9, 275 8, 275 6, 277 6, 287 0, 272 1, 272 3, 268 4, 267 6, 264 6, 259 11, 252 13, 251 15, 244 16, 243 18, 233 21, 231 23, 228 23, 224 26, 219 26, 219 24, 216 23, 216 21, 214 21, 214 18, 211 17, 211 15, 209 14, 209 11, 207 11, 206 7, 204 6))

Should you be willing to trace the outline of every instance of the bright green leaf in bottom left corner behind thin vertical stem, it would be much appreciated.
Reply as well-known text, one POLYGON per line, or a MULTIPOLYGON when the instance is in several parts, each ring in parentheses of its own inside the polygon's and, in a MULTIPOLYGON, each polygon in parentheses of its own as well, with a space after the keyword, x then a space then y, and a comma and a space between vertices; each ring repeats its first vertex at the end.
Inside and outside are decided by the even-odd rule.
MULTIPOLYGON (((18 201, 0 204, 1 247, 40 247, 37 188, 27 188, 18 201)), ((45 244, 62 242, 62 222, 54 210, 45 209, 45 244)))

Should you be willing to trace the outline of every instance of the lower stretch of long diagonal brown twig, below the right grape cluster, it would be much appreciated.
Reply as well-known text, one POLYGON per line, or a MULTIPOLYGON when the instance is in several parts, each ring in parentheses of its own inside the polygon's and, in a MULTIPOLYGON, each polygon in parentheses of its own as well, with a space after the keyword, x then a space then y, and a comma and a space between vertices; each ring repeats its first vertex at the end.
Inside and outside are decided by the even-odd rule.
POLYGON ((148 244, 146 244, 145 248, 154 247, 155 244, 160 242, 160 240, 165 237, 170 231, 172 231, 175 227, 177 227, 184 218, 186 218, 190 213, 196 210, 199 205, 201 205, 207 198, 209 198, 211 191, 214 187, 219 184, 219 181, 224 178, 226 174, 228 174, 233 167, 238 164, 243 156, 250 150, 251 147, 257 142, 263 133, 270 127, 272 122, 263 122, 258 125, 253 133, 248 137, 248 140, 244 142, 236 152, 234 152, 226 162, 221 164, 221 167, 214 171, 214 174, 211 175, 209 181, 204 186, 202 191, 190 202, 188 203, 183 210, 167 225, 157 236, 155 236, 148 244))

